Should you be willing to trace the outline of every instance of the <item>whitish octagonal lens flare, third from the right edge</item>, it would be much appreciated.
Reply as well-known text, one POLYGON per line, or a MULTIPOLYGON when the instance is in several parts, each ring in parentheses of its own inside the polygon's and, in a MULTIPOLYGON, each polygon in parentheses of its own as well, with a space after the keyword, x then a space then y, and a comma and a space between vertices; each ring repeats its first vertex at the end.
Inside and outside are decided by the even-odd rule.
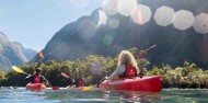
POLYGON ((172 23, 175 11, 167 7, 157 9, 154 20, 158 25, 167 26, 172 23))

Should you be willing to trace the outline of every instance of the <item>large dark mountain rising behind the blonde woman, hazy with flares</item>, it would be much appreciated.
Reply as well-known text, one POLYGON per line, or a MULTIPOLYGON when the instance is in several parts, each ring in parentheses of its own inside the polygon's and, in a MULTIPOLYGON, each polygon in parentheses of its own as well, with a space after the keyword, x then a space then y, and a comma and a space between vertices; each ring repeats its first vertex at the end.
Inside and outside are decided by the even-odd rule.
MULTIPOLYGON (((201 28, 193 27, 194 23, 196 27, 199 26, 194 18, 200 13, 206 15, 208 12, 208 1, 139 0, 138 4, 141 9, 138 10, 137 15, 140 15, 137 18, 125 15, 125 11, 115 13, 114 11, 123 10, 118 5, 115 8, 117 1, 112 0, 113 3, 107 8, 97 9, 91 15, 84 15, 59 30, 44 48, 44 60, 73 60, 82 59, 88 55, 115 57, 123 49, 137 47, 141 50, 157 44, 157 47, 145 56, 150 60, 151 66, 162 64, 182 66, 187 60, 208 69, 207 31, 201 33, 201 28), (163 20, 155 21, 159 12, 157 10, 161 7, 166 8, 169 13, 172 11, 174 13, 169 24, 165 19, 171 14, 163 14, 163 20), (107 11, 111 12, 106 13, 107 11), (164 22, 163 26, 158 24, 164 22)), ((119 3, 119 5, 125 7, 128 3, 119 3)), ((158 20, 160 19, 159 16, 158 20)), ((201 27, 206 28, 206 26, 208 24, 205 23, 201 27)), ((34 60, 38 60, 38 56, 34 60)))

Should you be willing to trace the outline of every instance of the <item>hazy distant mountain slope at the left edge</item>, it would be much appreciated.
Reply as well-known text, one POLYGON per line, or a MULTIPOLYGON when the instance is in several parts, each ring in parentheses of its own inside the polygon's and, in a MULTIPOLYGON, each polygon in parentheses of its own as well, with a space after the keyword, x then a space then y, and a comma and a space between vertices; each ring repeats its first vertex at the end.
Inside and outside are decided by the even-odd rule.
POLYGON ((0 69, 7 71, 11 69, 11 66, 21 66, 27 62, 30 56, 35 56, 34 50, 22 47, 20 43, 13 43, 8 39, 5 34, 0 32, 0 69))

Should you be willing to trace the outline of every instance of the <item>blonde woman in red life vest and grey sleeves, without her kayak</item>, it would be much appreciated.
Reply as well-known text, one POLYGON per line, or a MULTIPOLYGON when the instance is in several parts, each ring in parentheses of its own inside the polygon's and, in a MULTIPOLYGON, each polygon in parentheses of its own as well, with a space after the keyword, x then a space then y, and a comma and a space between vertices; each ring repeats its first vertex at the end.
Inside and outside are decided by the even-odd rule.
POLYGON ((135 78, 139 69, 132 54, 128 50, 123 50, 118 56, 118 65, 116 70, 109 76, 105 77, 106 80, 115 78, 135 78))

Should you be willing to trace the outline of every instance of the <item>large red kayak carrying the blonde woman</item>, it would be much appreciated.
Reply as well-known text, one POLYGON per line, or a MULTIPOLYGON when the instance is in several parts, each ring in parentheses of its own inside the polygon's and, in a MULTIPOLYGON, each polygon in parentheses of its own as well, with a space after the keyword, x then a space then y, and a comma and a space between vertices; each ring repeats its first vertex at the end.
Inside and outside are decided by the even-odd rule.
POLYGON ((135 79, 118 79, 118 80, 105 80, 100 83, 100 88, 104 91, 107 90, 120 90, 120 91, 147 91, 147 92, 160 92, 162 90, 162 77, 142 77, 135 79))

